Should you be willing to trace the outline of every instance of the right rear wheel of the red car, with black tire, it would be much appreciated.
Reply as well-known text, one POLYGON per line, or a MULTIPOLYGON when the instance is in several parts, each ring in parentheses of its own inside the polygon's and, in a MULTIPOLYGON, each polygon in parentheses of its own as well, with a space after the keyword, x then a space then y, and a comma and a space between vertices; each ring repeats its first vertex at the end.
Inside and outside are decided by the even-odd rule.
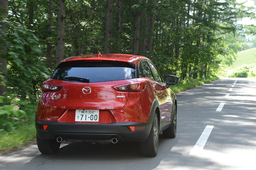
POLYGON ((158 144, 159 144, 159 125, 158 125, 158 117, 155 113, 148 139, 145 142, 140 142, 139 144, 141 156, 155 157, 158 152, 158 144))

